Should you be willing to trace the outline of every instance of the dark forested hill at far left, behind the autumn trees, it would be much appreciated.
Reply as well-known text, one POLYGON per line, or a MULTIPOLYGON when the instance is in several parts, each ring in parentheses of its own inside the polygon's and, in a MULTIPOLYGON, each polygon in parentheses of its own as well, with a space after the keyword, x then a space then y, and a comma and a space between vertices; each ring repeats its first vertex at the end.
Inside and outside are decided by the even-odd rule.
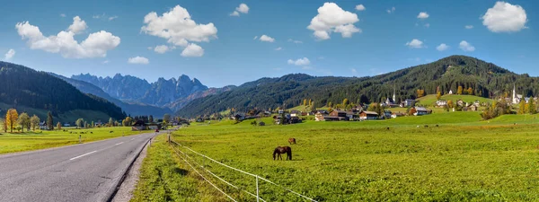
POLYGON ((125 118, 125 113, 110 101, 84 94, 48 73, 1 61, 0 102, 50 110, 54 114, 69 110, 96 110, 113 119, 125 118))

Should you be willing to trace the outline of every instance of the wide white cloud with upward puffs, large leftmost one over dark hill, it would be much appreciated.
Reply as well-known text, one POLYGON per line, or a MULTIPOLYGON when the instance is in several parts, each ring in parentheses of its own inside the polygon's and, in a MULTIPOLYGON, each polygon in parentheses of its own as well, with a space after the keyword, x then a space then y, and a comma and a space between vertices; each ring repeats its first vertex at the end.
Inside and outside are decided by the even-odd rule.
POLYGON ((106 57, 107 51, 118 47, 119 37, 107 31, 91 33, 86 40, 79 43, 74 39, 74 36, 84 31, 86 27, 86 22, 76 16, 67 31, 60 31, 56 36, 45 37, 40 28, 31 25, 30 22, 19 22, 15 25, 22 40, 27 40, 31 49, 59 53, 62 57, 106 57))

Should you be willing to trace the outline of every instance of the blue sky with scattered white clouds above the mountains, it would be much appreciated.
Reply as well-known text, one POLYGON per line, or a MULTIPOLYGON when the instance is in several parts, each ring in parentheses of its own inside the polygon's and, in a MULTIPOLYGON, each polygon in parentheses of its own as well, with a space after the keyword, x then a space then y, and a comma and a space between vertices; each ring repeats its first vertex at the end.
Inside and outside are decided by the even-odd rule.
POLYGON ((537 1, 324 3, 3 1, 0 59, 66 76, 120 73, 154 82, 184 74, 211 87, 291 73, 378 75, 451 55, 539 75, 537 1), (363 11, 356 9, 359 4, 363 11), (185 11, 192 26, 178 24, 185 11), (151 12, 155 17, 145 22, 151 12), (310 26, 315 16, 322 25, 310 26), (49 38, 60 31, 68 36, 49 38), (76 41, 65 42, 69 36, 76 41), (442 43, 448 48, 440 51, 442 43), (168 51, 158 53, 156 46, 168 51))

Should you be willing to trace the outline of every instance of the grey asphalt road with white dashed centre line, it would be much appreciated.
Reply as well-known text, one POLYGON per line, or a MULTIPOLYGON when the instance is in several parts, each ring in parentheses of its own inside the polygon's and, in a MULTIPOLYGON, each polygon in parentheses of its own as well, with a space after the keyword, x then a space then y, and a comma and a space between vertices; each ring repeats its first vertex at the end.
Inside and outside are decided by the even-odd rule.
POLYGON ((105 201, 153 136, 0 155, 0 201, 105 201))

